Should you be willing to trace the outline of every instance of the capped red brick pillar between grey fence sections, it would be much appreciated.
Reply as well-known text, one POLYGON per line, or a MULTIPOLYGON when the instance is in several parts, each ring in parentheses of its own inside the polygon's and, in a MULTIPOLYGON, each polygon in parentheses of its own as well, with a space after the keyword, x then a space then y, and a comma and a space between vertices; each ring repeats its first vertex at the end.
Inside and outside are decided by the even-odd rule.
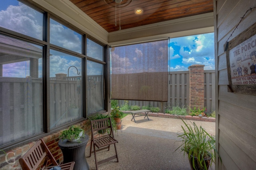
POLYGON ((191 65, 188 67, 190 74, 190 108, 204 107, 204 65, 191 65))

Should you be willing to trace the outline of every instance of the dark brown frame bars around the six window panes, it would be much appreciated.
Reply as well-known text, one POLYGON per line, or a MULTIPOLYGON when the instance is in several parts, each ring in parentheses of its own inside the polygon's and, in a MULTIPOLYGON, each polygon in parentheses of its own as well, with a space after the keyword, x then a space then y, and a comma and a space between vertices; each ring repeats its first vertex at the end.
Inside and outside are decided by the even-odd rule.
MULTIPOLYGON (((109 59, 109 54, 110 52, 110 47, 103 44, 102 42, 99 42, 98 40, 94 39, 93 37, 89 36, 88 34, 86 34, 85 32, 83 32, 82 30, 76 28, 75 26, 73 26, 71 23, 63 20, 62 18, 56 16, 56 14, 53 14, 51 12, 49 12, 48 10, 42 8, 41 6, 39 6, 38 4, 32 3, 30 1, 25 1, 25 0, 19 0, 20 2, 24 3, 25 5, 29 6, 30 8, 33 8, 34 10, 41 12, 43 14, 43 23, 42 23, 42 40, 38 40, 36 38, 32 38, 30 36, 26 36, 24 34, 18 33, 18 32, 14 32, 12 30, 8 30, 6 28, 2 28, 0 27, 0 34, 4 35, 4 36, 9 36, 12 38, 16 38, 18 40, 23 40, 29 43, 34 43, 36 45, 40 45, 43 48, 42 51, 42 94, 43 94, 43 99, 42 99, 42 112, 43 112, 43 132, 40 132, 38 134, 29 136, 27 138, 23 138, 8 144, 5 144, 3 146, 0 146, 1 150, 11 150, 13 148, 16 148, 18 146, 22 146, 24 144, 27 144, 28 142, 32 142, 34 140, 37 140, 39 138, 42 138, 44 136, 47 136, 49 134, 58 132, 60 130, 62 130, 63 128, 66 128, 70 125, 74 125, 76 123, 80 123, 81 121, 84 121, 87 119, 87 101, 86 101, 86 86, 87 86, 87 68, 86 68, 86 64, 87 64, 87 60, 88 61, 93 61, 96 63, 100 63, 103 65, 103 70, 104 70, 104 110, 99 111, 98 113, 105 113, 106 111, 108 111, 109 107, 109 102, 110 101, 110 97, 108 97, 110 90, 110 83, 107 84, 106 83, 106 79, 109 79, 110 77, 108 77, 108 71, 110 70, 110 64, 108 64, 109 59), (82 35, 82 41, 81 41, 81 47, 82 47, 82 53, 77 53, 75 51, 69 50, 69 49, 65 49, 63 47, 54 45, 54 44, 50 44, 50 18, 54 19, 56 22, 59 22, 60 24, 63 24, 64 26, 70 28, 71 30, 77 32, 78 34, 82 35), (86 39, 89 38, 90 40, 94 41, 95 43, 98 43, 99 45, 102 45, 103 47, 103 61, 94 59, 92 57, 88 57, 86 55, 86 48, 87 48, 87 43, 86 43, 86 39), (71 121, 70 123, 67 123, 65 125, 60 125, 58 127, 52 128, 50 130, 50 49, 54 49, 60 52, 64 52, 70 55, 74 55, 76 57, 80 57, 82 58, 82 71, 84 71, 83 74, 83 82, 82 82, 82 88, 83 88, 83 106, 82 106, 82 113, 83 113, 83 117, 81 119, 77 119, 75 121, 71 121)), ((109 60, 110 61, 110 60, 109 60)), ((109 71, 110 73, 110 71, 109 71)))

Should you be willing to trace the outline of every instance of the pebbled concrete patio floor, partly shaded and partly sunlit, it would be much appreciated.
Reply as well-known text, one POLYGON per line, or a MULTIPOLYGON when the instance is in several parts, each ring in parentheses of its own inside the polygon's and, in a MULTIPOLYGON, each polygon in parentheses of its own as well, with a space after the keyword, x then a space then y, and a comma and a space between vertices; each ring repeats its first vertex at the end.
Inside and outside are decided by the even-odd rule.
MULTIPOLYGON (((132 115, 122 119, 122 130, 114 133, 118 140, 117 152, 119 162, 116 159, 100 164, 100 170, 190 170, 187 155, 184 156, 180 149, 177 132, 183 125, 180 119, 162 117, 135 117, 136 123, 131 121, 132 115)), ((186 121, 190 123, 192 121, 186 121)), ((194 121, 202 126, 210 134, 215 135, 215 123, 194 121)), ((90 146, 86 148, 86 160, 90 170, 95 170, 94 154, 90 154, 90 146)), ((110 151, 97 152, 97 159, 114 155, 114 145, 110 151)), ((212 164, 210 170, 215 169, 212 164)))

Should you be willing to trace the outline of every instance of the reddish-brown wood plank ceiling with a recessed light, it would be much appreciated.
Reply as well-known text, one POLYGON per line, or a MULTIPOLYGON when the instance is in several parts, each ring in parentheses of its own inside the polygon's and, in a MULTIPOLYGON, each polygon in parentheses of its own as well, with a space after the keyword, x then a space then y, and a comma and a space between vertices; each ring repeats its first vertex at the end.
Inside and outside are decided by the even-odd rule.
POLYGON ((118 31, 120 27, 124 30, 213 12, 213 0, 122 0, 121 3, 116 3, 121 0, 70 1, 107 32, 118 31), (137 9, 142 9, 143 13, 135 14, 137 9))

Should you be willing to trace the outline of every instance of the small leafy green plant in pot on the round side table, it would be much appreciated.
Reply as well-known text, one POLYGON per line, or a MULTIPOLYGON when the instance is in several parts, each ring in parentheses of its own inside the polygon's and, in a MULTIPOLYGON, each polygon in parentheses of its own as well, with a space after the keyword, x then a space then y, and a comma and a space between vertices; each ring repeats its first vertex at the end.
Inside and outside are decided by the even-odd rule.
POLYGON ((74 127, 72 125, 70 128, 63 130, 60 134, 60 138, 62 140, 68 139, 69 142, 75 142, 80 139, 80 137, 84 134, 84 130, 78 127, 74 127))

